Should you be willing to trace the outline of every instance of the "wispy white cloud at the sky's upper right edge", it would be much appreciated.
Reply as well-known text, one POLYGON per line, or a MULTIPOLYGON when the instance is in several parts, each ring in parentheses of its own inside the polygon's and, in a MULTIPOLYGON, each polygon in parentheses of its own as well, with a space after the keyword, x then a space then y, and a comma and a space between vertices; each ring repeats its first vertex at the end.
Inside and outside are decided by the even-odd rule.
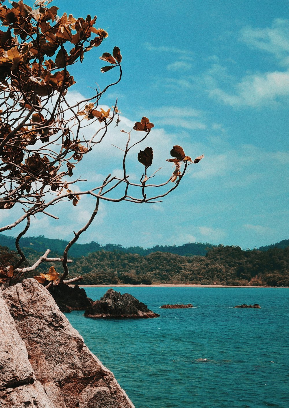
POLYGON ((245 27, 239 32, 239 40, 253 49, 270 53, 275 62, 286 69, 252 72, 236 78, 213 55, 211 67, 198 77, 191 77, 192 81, 206 89, 209 97, 233 107, 274 106, 284 102, 289 96, 289 20, 275 19, 272 26, 266 28, 245 27))

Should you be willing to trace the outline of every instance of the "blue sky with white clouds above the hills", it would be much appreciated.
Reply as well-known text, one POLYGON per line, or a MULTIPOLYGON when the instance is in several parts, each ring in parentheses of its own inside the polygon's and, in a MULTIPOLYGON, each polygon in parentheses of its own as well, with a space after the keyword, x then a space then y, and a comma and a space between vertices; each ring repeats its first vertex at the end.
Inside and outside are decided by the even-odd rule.
MULTIPOLYGON (((205 155, 162 203, 102 204, 80 242, 253 248, 288 238, 288 0, 60 0, 53 5, 59 14, 76 18, 96 14, 96 26, 109 33, 70 70, 77 81, 71 100, 116 78, 115 70, 100 73, 99 60, 116 45, 123 79, 102 103, 112 106, 118 97, 119 129, 130 130, 143 115, 155 124, 142 145, 156 152, 152 171, 162 166, 155 181, 171 174, 164 159, 174 144, 191 157, 205 155)), ((79 174, 89 175, 87 186, 120 169, 119 151, 111 146, 120 135, 114 129, 109 137, 80 162, 79 174)), ((136 180, 143 170, 138 151, 130 164, 136 180)), ((45 223, 47 237, 70 239, 94 203, 70 204, 53 208, 58 222, 43 215, 34 220, 29 235, 44 233, 45 223)))

